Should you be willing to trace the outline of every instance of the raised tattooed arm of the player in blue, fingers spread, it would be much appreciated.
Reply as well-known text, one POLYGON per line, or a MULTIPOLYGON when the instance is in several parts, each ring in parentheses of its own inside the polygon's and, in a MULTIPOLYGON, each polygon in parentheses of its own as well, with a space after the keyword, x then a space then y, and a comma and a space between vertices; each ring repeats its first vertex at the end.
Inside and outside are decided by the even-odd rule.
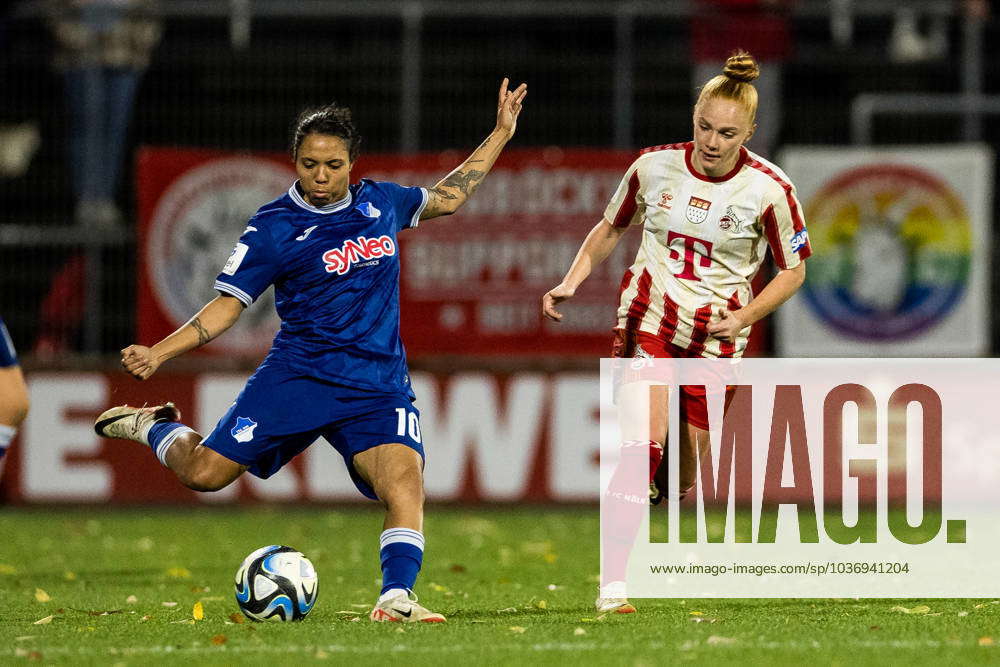
POLYGON ((517 117, 521 113, 521 103, 528 94, 528 84, 522 83, 511 91, 507 90, 508 83, 509 81, 504 78, 500 84, 496 127, 465 162, 428 190, 427 206, 420 214, 421 220, 436 218, 439 215, 451 215, 457 211, 483 182, 486 174, 490 173, 500 151, 514 136, 517 117))

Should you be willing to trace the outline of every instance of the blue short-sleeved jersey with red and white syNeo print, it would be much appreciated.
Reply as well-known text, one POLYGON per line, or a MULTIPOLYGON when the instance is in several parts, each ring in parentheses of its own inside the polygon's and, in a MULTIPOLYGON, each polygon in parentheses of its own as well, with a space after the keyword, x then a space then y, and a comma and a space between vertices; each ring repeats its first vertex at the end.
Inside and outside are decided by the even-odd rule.
POLYGON ((349 387, 410 393, 399 337, 398 233, 427 191, 362 179, 322 208, 298 183, 250 219, 215 289, 249 306, 274 285, 281 329, 267 361, 349 387))

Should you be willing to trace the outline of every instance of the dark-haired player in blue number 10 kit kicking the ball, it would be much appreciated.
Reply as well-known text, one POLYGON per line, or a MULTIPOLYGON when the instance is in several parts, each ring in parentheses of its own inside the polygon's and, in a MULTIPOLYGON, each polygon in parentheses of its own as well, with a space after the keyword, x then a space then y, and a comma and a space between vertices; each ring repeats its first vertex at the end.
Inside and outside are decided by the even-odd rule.
POLYGON ((269 477, 323 436, 358 490, 386 508, 373 621, 445 620, 412 595, 424 550, 424 450, 399 337, 397 234, 465 203, 514 136, 526 94, 504 79, 493 132, 429 189, 350 184, 360 142, 350 111, 303 112, 291 146, 299 178, 250 219, 215 282, 220 295, 152 347, 122 350, 121 363, 145 380, 231 327, 274 285, 281 328, 267 357, 206 438, 180 423, 172 403, 111 408, 94 427, 147 445, 198 491, 246 471, 269 477))

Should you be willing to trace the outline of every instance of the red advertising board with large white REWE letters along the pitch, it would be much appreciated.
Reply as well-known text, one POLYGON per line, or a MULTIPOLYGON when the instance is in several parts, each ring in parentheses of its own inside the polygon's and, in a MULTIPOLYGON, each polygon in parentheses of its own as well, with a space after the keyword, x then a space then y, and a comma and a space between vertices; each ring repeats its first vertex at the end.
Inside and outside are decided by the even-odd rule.
MULTIPOLYGON (((184 423, 207 434, 245 382, 244 373, 166 370, 142 383, 120 372, 31 373, 31 412, 5 457, 0 499, 9 504, 363 501, 341 457, 322 439, 267 480, 244 475, 222 491, 197 493, 183 487, 148 447, 100 438, 93 430, 94 418, 109 405, 126 401, 155 405, 169 399, 182 410, 184 423)), ((598 500, 600 445, 608 434, 601 415, 613 406, 601 402, 597 373, 418 371, 412 382, 427 455, 424 487, 429 500, 598 500)), ((772 418, 764 412, 755 416, 772 418)), ((786 426, 775 423, 782 429, 786 426)), ((824 448, 818 454, 822 459, 810 461, 804 440, 798 449, 786 447, 785 431, 772 428, 771 432, 772 438, 778 434, 776 445, 753 446, 767 452, 764 479, 779 490, 782 503, 801 502, 809 509, 816 490, 835 479, 833 475, 840 476, 836 485, 840 488, 860 484, 855 477, 875 470, 865 467, 872 463, 874 452, 845 464, 839 447, 824 448), (794 484, 785 483, 786 471, 794 484)), ((617 451, 616 444, 605 446, 617 451)), ((814 458, 816 449, 812 448, 814 458)), ((608 465, 613 464, 614 460, 608 465)), ((905 452, 888 464, 889 482, 883 488, 890 494, 901 493, 897 498, 906 494, 906 483, 901 482, 907 477, 906 465, 905 452)), ((720 463, 722 467, 733 469, 720 463)), ((754 501, 752 482, 751 475, 737 476, 733 482, 737 501, 754 501)), ((729 482, 725 485, 728 488, 729 482)), ((941 489, 925 486, 924 492, 935 498, 941 489)), ((823 494, 827 503, 836 500, 828 491, 823 494)), ((693 495, 686 502, 694 502, 693 495)))

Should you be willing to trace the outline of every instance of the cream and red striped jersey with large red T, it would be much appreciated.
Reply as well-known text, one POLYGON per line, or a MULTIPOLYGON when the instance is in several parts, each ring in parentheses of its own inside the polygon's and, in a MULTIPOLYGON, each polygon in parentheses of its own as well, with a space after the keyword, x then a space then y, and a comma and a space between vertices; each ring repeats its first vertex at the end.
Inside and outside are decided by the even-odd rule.
POLYGON ((753 298, 750 281, 768 247, 790 269, 810 255, 809 236, 778 167, 741 147, 732 171, 704 176, 693 150, 693 142, 643 150, 604 213, 615 227, 643 227, 622 278, 618 326, 704 357, 739 357, 750 327, 724 343, 708 335, 709 321, 753 298))

